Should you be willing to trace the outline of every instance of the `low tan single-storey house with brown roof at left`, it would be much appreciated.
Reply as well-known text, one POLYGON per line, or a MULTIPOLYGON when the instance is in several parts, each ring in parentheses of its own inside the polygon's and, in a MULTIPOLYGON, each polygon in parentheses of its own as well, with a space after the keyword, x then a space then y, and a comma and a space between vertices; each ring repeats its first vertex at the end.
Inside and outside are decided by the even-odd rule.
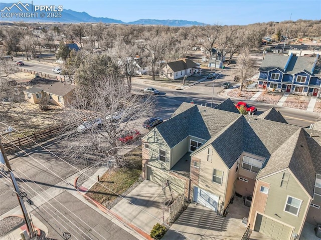
POLYGON ((24 94, 28 102, 37 104, 46 99, 51 104, 68 107, 75 85, 36 77, 29 81, 25 87, 24 94))

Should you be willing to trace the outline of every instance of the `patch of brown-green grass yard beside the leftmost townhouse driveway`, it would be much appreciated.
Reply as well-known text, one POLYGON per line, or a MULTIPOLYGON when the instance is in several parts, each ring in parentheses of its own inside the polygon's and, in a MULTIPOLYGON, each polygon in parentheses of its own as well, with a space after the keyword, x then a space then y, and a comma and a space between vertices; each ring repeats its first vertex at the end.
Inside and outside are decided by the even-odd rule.
POLYGON ((111 169, 99 177, 96 183, 86 193, 89 197, 107 208, 114 206, 119 200, 135 188, 141 181, 141 146, 124 155, 124 160, 130 162, 128 167, 111 169))

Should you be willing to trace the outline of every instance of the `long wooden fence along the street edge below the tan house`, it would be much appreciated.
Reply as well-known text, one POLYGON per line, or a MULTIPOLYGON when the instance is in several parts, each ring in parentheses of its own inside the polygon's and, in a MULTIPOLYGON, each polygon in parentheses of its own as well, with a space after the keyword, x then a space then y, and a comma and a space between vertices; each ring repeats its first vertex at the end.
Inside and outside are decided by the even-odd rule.
POLYGON ((56 135, 60 133, 62 130, 64 130, 65 127, 66 125, 60 124, 54 127, 50 127, 43 131, 34 132, 29 136, 18 138, 17 140, 11 141, 10 143, 4 142, 3 145, 6 151, 12 151, 15 148, 19 150, 18 147, 23 147, 30 144, 35 145, 33 141, 40 141, 44 138, 48 138, 48 136, 56 135))

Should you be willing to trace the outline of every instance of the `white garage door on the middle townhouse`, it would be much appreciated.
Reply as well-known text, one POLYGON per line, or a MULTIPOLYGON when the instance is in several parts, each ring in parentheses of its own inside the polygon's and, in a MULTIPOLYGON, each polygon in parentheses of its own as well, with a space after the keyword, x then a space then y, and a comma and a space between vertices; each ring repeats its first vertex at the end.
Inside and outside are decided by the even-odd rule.
POLYGON ((202 204, 203 206, 206 206, 208 208, 213 209, 214 211, 217 211, 218 202, 219 202, 219 196, 210 193, 208 191, 205 191, 199 187, 194 186, 194 197, 193 200, 202 204))

